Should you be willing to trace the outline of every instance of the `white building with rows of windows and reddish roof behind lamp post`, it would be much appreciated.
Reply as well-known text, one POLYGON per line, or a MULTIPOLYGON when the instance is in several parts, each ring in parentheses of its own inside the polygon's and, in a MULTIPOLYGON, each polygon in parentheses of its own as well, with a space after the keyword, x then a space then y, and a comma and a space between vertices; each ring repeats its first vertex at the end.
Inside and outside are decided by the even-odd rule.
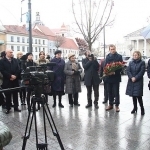
MULTIPOLYGON (((29 52, 29 37, 25 26, 4 26, 4 30, 0 33, 0 40, 4 41, 3 50, 12 49, 14 57, 18 51, 23 54, 29 52)), ((39 52, 44 51, 48 53, 48 39, 36 30, 32 31, 32 53, 34 59, 39 58, 39 52)))

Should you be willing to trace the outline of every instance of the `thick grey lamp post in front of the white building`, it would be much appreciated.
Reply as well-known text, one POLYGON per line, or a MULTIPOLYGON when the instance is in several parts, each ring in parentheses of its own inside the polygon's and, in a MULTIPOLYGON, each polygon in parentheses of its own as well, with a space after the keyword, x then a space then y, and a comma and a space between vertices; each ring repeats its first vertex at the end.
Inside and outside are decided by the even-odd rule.
MULTIPOLYGON (((21 3, 24 0, 21 0, 21 3)), ((32 53, 32 23, 31 23, 31 0, 28 0, 28 12, 22 14, 22 7, 21 7, 21 22, 22 16, 26 14, 26 23, 28 24, 27 30, 29 32, 29 52, 32 53)))

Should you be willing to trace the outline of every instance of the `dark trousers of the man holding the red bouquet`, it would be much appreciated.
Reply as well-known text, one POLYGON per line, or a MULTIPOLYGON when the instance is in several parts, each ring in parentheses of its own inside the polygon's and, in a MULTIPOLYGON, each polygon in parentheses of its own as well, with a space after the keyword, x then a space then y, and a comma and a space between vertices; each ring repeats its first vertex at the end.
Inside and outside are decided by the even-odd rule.
POLYGON ((107 86, 108 86, 109 104, 111 106, 113 106, 114 97, 115 97, 115 104, 116 104, 116 106, 119 106, 119 104, 120 104, 120 94, 119 94, 120 82, 107 83, 107 86))

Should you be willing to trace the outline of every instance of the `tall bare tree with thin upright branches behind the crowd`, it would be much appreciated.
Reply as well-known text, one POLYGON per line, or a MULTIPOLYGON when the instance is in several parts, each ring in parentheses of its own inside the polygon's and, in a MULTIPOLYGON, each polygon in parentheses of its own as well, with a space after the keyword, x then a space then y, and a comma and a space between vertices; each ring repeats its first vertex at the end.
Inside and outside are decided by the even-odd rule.
POLYGON ((92 50, 93 43, 98 39, 105 26, 110 25, 113 0, 72 0, 72 11, 79 32, 92 50))

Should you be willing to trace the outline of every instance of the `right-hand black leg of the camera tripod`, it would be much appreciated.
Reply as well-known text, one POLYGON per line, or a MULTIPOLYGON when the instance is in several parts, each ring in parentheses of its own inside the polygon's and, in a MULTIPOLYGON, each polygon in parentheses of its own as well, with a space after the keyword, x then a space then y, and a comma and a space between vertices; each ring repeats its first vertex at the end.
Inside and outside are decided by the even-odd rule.
POLYGON ((61 141, 61 139, 60 139, 59 133, 58 133, 58 131, 57 131, 55 122, 54 122, 54 120, 53 120, 52 114, 51 114, 50 109, 49 109, 49 107, 48 107, 47 104, 46 104, 46 107, 47 107, 48 113, 49 113, 49 115, 50 115, 50 118, 51 118, 52 123, 53 123, 53 126, 54 126, 54 128, 53 128, 53 126, 52 126, 52 124, 51 124, 51 122, 50 122, 50 118, 49 118, 49 116, 48 116, 48 113, 47 113, 46 109, 44 109, 44 110, 45 110, 45 114, 46 114, 47 119, 48 119, 48 122, 49 122, 49 124, 50 124, 50 126, 51 126, 53 135, 56 136, 57 141, 58 141, 58 143, 59 143, 59 146, 60 146, 61 150, 65 150, 65 149, 64 149, 64 146, 63 146, 63 144, 62 144, 62 141, 61 141), (56 132, 54 132, 54 129, 55 129, 56 132))

